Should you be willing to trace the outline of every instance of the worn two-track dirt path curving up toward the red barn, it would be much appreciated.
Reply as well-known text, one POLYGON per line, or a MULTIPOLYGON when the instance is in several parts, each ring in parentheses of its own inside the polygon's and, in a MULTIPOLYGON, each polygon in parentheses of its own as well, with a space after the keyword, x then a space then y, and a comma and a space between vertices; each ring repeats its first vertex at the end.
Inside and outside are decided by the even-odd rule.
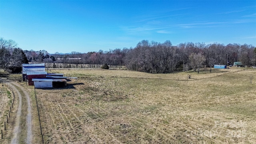
MULTIPOLYGON (((17 144, 20 140, 18 140, 18 136, 21 132, 20 130, 20 117, 21 117, 21 109, 22 109, 22 94, 21 92, 16 88, 18 87, 20 90, 22 90, 22 93, 24 94, 26 98, 26 107, 27 107, 27 115, 26 115, 26 144, 31 144, 32 142, 32 114, 31 114, 31 104, 30 104, 30 98, 28 92, 19 84, 16 82, 9 82, 9 84, 12 86, 12 88, 18 93, 19 96, 19 106, 17 110, 17 116, 16 116, 16 124, 13 131, 13 138, 11 141, 11 144, 17 144)), ((23 141, 23 140, 22 140, 23 141)), ((24 140, 25 141, 25 140, 24 140)))

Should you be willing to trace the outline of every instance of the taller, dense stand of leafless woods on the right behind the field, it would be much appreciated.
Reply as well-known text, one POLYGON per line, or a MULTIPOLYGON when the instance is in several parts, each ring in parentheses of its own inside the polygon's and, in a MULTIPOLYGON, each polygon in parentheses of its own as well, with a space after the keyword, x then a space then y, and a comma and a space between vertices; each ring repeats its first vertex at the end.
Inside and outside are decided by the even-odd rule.
POLYGON ((244 44, 204 44, 185 42, 177 46, 167 40, 164 43, 142 40, 131 49, 125 58, 130 70, 150 73, 168 73, 193 69, 214 64, 232 65, 242 62, 244 66, 256 65, 256 48, 244 44))

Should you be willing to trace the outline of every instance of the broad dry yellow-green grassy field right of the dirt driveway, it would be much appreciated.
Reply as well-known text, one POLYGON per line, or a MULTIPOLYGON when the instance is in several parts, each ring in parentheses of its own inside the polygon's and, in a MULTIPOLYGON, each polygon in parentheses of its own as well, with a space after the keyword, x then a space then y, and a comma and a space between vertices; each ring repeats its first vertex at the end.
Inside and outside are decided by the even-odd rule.
POLYGON ((51 72, 78 81, 36 89, 45 143, 256 143, 253 70, 51 72))

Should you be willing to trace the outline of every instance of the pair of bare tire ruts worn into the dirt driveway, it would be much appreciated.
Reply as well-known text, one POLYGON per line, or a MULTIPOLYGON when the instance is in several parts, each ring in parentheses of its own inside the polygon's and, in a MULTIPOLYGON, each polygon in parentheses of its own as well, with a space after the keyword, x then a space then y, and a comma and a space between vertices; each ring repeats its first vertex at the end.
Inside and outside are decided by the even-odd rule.
MULTIPOLYGON (((26 126, 27 126, 27 132, 26 132, 26 144, 31 144, 31 142, 32 142, 32 138, 33 138, 33 134, 32 134, 32 114, 31 114, 31 104, 30 104, 30 97, 29 97, 29 94, 28 94, 28 92, 22 87, 22 86, 20 86, 19 84, 16 84, 16 83, 14 83, 14 82, 10 82, 10 84, 13 86, 13 88, 14 88, 14 90, 16 90, 16 92, 18 93, 18 95, 19 95, 19 98, 20 98, 20 103, 22 102, 21 101, 21 94, 20 94, 20 92, 18 91, 18 89, 17 88, 15 88, 15 86, 16 87, 18 87, 18 88, 20 88, 20 90, 22 90, 22 92, 23 92, 23 94, 25 95, 25 97, 26 97, 26 101, 27 101, 27 103, 26 103, 26 105, 27 105, 27 116, 26 116, 26 126)), ((20 106, 20 105, 19 105, 20 106)), ((20 106, 21 107, 21 106, 20 106)), ((20 108, 20 110, 21 110, 21 108, 20 108)), ((19 109, 18 109, 18 111, 19 111, 19 109)), ((20 114, 18 115, 18 113, 17 113, 17 120, 18 121, 20 121, 20 114)), ((16 122, 17 122, 17 120, 16 120, 16 122)), ((18 124, 19 124, 20 122, 18 122, 18 124)), ((17 129, 19 129, 19 127, 17 128, 17 129)), ((20 133, 20 130, 18 130, 18 131, 15 131, 14 130, 14 139, 12 139, 12 144, 16 144, 18 141, 17 141, 17 135, 20 133)))

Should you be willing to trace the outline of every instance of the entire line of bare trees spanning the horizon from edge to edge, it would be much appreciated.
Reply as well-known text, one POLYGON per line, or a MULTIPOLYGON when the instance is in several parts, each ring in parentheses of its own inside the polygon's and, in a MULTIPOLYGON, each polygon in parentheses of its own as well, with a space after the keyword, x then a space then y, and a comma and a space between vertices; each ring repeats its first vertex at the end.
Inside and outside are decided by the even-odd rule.
POLYGON ((199 72, 202 67, 212 68, 214 64, 232 65, 234 62, 242 62, 244 66, 256 65, 256 48, 248 44, 224 45, 214 43, 206 45, 204 43, 185 42, 173 46, 170 40, 166 40, 164 43, 142 40, 138 42, 135 48, 117 48, 115 50, 99 50, 98 52, 88 53, 60 54, 56 52, 55 54, 49 54, 46 50, 22 51, 17 48, 17 44, 13 40, 1 38, 0 50, 1 68, 21 65, 21 63, 26 63, 26 59, 29 62, 44 62, 46 67, 49 68, 59 67, 58 64, 60 63, 66 64, 65 67, 70 67, 70 64, 76 67, 82 67, 82 64, 89 64, 90 67, 100 67, 102 64, 107 64, 109 66, 126 66, 129 70, 149 73, 168 73, 190 69, 199 72), (2 51, 5 51, 5 53, 2 53, 2 51), (4 66, 6 57, 10 57, 8 66, 4 66), (16 58, 16 60, 13 58, 16 58), (20 60, 17 58, 20 58, 20 60), (14 64, 14 61, 16 64, 14 64), (17 61, 20 61, 20 63, 17 61))

